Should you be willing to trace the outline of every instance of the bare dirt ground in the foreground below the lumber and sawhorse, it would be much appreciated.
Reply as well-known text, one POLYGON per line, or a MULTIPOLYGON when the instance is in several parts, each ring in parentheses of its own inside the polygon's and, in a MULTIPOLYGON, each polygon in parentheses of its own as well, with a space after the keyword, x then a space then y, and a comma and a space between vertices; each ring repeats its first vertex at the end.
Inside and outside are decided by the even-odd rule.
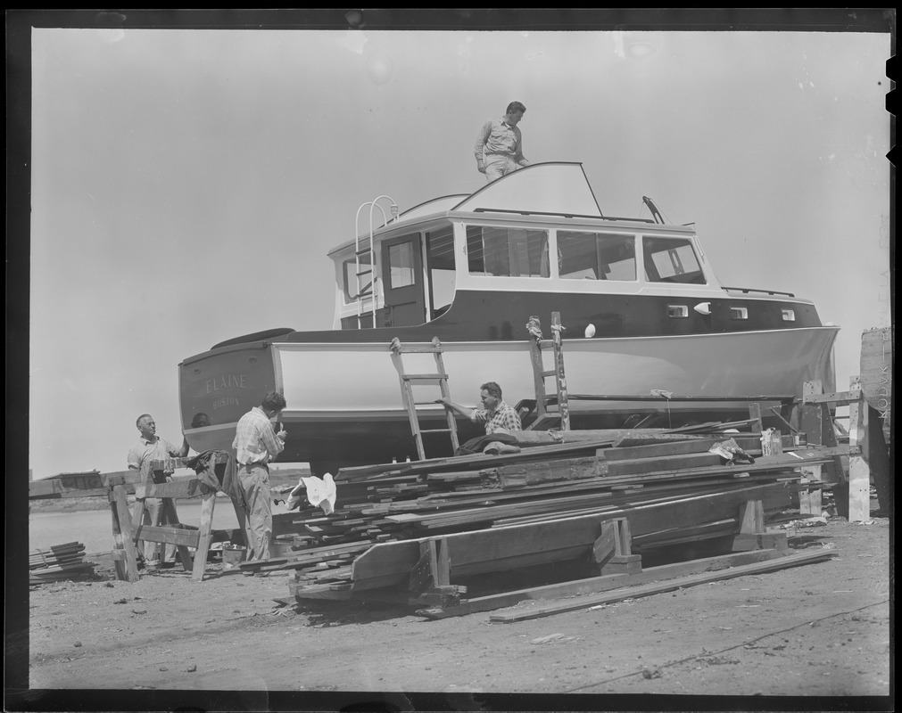
POLYGON ((297 604, 287 574, 221 565, 43 584, 31 709, 893 709, 890 530, 833 517, 787 531, 826 562, 512 624, 297 604))

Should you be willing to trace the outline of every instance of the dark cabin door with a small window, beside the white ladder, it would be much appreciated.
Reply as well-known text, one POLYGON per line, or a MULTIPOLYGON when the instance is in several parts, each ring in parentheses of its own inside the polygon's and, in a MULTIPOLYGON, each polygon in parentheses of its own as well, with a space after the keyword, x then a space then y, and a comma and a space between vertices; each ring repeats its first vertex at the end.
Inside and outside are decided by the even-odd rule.
POLYGON ((382 242, 382 290, 385 306, 376 315, 378 326, 421 325, 426 321, 419 233, 382 242))

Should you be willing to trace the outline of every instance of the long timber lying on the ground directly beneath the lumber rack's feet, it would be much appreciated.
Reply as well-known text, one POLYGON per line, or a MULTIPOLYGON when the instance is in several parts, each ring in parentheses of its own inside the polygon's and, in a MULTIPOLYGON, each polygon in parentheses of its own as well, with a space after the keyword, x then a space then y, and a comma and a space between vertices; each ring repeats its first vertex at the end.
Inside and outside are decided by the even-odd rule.
POLYGON ((460 617, 480 611, 491 611, 492 609, 511 607, 520 603, 520 601, 528 599, 554 599, 594 594, 600 591, 632 587, 658 580, 670 580, 676 577, 701 574, 706 571, 724 570, 729 567, 737 567, 753 562, 764 562, 782 556, 784 556, 784 554, 778 553, 776 550, 758 550, 749 553, 722 554, 713 557, 705 557, 699 560, 690 560, 688 562, 676 562, 673 564, 663 564, 658 567, 649 567, 636 574, 608 574, 584 580, 547 584, 540 587, 530 587, 523 590, 487 595, 485 597, 475 597, 474 599, 462 600, 460 604, 454 608, 424 609, 417 613, 420 616, 433 619, 460 617))

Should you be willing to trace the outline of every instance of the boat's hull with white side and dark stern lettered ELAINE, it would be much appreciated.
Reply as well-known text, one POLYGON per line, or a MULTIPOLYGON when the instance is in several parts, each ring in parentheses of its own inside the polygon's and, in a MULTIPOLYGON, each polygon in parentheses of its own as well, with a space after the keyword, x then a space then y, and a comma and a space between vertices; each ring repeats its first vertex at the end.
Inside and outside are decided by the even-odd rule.
MULTIPOLYGON (((572 339, 564 361, 571 395, 618 395, 645 400, 580 400, 570 403, 577 428, 621 427, 633 415, 660 416, 655 425, 747 417, 754 396, 798 396, 806 380, 833 389, 833 341, 837 327, 818 326, 729 334, 572 339), (671 400, 647 400, 652 389, 671 400), (678 397, 692 397, 680 401, 678 397), (735 397, 736 400, 730 400, 735 397), (705 401, 704 398, 711 398, 705 401), (663 419, 663 420, 662 420, 663 419)), ((476 405, 486 381, 496 381, 511 405, 534 399, 529 342, 443 343, 452 399, 476 405)), ((545 343, 545 370, 554 368, 545 343)), ((404 354, 406 373, 435 373, 431 354, 404 354)), ((416 447, 404 408, 399 372, 388 342, 273 342, 210 352, 182 370, 185 433, 198 451, 229 448, 237 419, 268 388, 278 388, 288 406, 280 416, 288 431, 282 462, 310 462, 314 470, 341 465, 414 458, 416 447), (253 360, 253 361, 252 361, 253 360), (191 380, 193 370, 196 379, 191 380), (207 408, 212 425, 187 426, 207 408)), ((548 379, 549 393, 554 380, 548 379)), ((423 428, 444 424, 444 409, 432 405, 437 384, 415 387, 423 428)), ((460 438, 480 432, 458 420, 460 438)), ((450 454, 447 434, 425 436, 430 457, 450 454)))

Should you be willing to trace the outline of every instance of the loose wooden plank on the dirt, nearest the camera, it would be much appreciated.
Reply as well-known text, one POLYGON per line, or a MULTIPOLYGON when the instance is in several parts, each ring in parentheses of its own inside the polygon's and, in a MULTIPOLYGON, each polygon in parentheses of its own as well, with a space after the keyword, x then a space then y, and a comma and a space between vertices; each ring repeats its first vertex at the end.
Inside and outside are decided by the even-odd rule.
POLYGON ((622 601, 623 599, 650 597, 652 595, 661 594, 667 591, 695 587, 699 584, 706 584, 711 581, 730 580, 737 577, 745 577, 750 574, 764 574, 770 571, 784 570, 789 567, 798 567, 804 564, 823 562, 836 554, 837 553, 835 550, 819 550, 813 553, 787 554, 787 556, 779 557, 778 559, 770 559, 765 562, 743 564, 737 567, 732 567, 728 570, 706 571, 701 574, 690 575, 687 577, 677 577, 676 579, 654 582, 639 587, 627 587, 619 590, 603 592, 600 594, 588 595, 577 599, 561 601, 557 604, 550 604, 546 607, 529 608, 522 611, 509 612, 506 614, 492 614, 489 617, 489 621, 498 623, 511 623, 514 621, 524 621, 526 619, 549 617, 554 614, 594 607, 599 604, 612 604, 613 602, 622 601))

